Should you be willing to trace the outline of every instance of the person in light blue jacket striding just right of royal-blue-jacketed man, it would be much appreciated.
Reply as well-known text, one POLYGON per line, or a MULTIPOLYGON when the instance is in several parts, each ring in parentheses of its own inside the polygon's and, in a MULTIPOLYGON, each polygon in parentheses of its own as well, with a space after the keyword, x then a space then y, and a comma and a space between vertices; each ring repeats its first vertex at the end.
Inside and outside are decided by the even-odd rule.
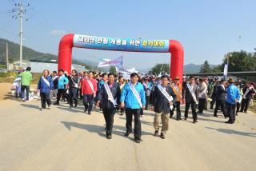
POLYGON ((54 103, 54 105, 59 105, 59 100, 62 96, 66 98, 68 101, 70 101, 69 95, 66 93, 66 85, 69 83, 69 80, 64 75, 64 70, 58 71, 59 77, 58 77, 58 93, 57 93, 57 101, 54 103))

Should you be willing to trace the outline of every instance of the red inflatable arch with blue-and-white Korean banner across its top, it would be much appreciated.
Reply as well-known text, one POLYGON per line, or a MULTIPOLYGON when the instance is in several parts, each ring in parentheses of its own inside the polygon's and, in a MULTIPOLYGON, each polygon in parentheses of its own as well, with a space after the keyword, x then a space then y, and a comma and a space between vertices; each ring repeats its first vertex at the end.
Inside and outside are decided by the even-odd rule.
POLYGON ((66 34, 58 47, 58 70, 70 73, 72 63, 72 48, 94 50, 115 50, 148 53, 170 53, 170 78, 182 78, 184 50, 175 40, 143 40, 130 38, 103 38, 79 34, 66 34))

